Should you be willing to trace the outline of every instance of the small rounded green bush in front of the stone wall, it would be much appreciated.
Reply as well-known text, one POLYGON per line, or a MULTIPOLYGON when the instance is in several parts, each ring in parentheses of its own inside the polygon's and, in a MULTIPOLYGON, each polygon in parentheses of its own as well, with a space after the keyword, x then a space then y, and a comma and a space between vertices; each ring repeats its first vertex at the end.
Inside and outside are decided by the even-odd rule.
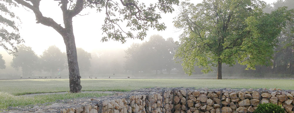
POLYGON ((285 113, 282 105, 277 105, 273 103, 259 104, 254 113, 285 113))

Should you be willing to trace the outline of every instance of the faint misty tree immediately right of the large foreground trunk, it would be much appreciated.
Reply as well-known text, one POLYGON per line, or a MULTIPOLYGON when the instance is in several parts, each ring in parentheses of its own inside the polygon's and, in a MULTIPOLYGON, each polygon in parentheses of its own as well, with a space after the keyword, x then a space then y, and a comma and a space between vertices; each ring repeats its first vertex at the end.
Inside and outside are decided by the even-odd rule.
POLYGON ((91 67, 91 53, 88 53, 83 48, 76 49, 78 54, 78 65, 81 71, 88 71, 91 67))

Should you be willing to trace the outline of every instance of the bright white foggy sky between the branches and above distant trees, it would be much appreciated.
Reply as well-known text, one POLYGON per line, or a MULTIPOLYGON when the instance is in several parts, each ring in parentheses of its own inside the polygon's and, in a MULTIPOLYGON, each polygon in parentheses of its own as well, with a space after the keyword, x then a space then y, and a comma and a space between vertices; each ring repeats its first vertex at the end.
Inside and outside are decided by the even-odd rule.
MULTIPOLYGON (((273 3, 276 0, 264 0, 267 3, 273 3)), ((155 3, 156 0, 145 1, 145 4, 155 3), (149 3, 146 3, 149 2, 149 3)), ((197 4, 201 0, 191 0, 191 2, 197 4)), ((178 36, 182 33, 181 30, 173 27, 173 17, 178 14, 178 6, 174 6, 175 11, 172 14, 161 14, 161 21, 167 26, 165 31, 157 31, 152 28, 147 32, 147 36, 143 41, 138 39, 127 39, 127 42, 121 44, 121 42, 108 41, 101 42, 102 30, 101 25, 104 24, 105 12, 97 13, 95 9, 83 9, 80 13, 88 14, 85 16, 76 16, 73 18, 74 35, 76 41, 76 47, 83 48, 88 52, 97 50, 108 50, 108 49, 127 49, 132 43, 142 43, 148 41, 149 37, 153 34, 159 34, 163 38, 172 37, 175 41, 178 41, 178 36)), ((56 45, 65 52, 65 44, 63 38, 53 28, 44 26, 36 23, 35 15, 32 11, 24 10, 24 7, 13 8, 16 16, 19 16, 21 24, 19 33, 25 40, 23 43, 26 46, 32 47, 32 50, 36 54, 41 55, 42 52, 51 45, 56 45)), ((58 1, 46 1, 43 0, 40 3, 40 10, 44 16, 53 18, 57 23, 63 25, 62 11, 58 6, 58 1)), ((0 48, 0 54, 5 57, 8 55, 7 52, 0 48)), ((11 56, 12 58, 12 56, 11 56)), ((9 63, 9 62, 6 62, 9 63)), ((6 64, 7 65, 7 64, 6 64)))

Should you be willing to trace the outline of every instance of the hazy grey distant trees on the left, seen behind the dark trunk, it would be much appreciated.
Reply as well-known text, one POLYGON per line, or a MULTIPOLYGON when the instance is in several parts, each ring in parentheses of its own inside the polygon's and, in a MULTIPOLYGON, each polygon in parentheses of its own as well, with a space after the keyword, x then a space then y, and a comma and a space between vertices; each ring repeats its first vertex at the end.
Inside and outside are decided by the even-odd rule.
MULTIPOLYGON (((50 75, 57 75, 64 69, 68 69, 66 53, 61 52, 55 45, 44 50, 43 54, 38 56, 29 46, 16 46, 17 52, 11 62, 11 66, 16 70, 21 70, 23 76, 34 75, 33 71, 50 72, 50 75)), ((81 71, 88 71, 91 66, 91 53, 86 52, 82 48, 77 48, 78 61, 81 71)), ((0 69, 5 69, 5 60, 0 55, 0 69)))

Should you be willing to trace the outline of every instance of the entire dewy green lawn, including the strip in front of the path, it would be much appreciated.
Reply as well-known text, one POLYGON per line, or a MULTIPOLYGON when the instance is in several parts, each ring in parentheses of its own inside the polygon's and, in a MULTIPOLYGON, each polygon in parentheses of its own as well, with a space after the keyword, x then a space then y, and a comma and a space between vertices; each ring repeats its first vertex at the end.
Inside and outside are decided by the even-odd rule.
MULTIPOLYGON (((230 87, 230 88, 281 88, 294 90, 294 80, 266 79, 81 79, 83 91, 130 91, 146 87, 230 87)), ((54 102, 85 96, 103 96, 99 93, 77 93, 17 96, 46 92, 68 92, 68 79, 0 80, 0 109, 8 106, 54 102)))

